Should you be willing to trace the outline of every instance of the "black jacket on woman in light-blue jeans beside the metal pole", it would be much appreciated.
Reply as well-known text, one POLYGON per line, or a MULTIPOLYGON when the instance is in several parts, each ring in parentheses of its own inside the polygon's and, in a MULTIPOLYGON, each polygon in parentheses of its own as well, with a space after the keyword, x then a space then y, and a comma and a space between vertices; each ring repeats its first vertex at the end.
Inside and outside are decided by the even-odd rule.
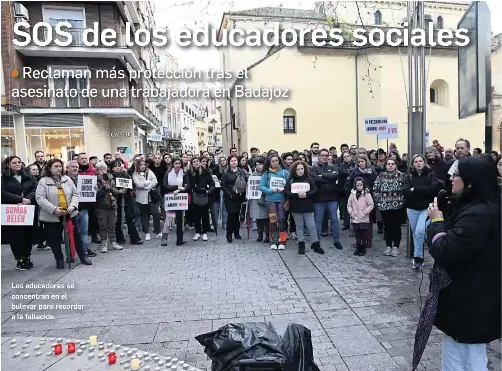
POLYGON ((405 207, 413 210, 427 209, 438 195, 438 185, 436 174, 430 168, 424 167, 420 175, 415 169, 411 170, 403 181, 405 207))

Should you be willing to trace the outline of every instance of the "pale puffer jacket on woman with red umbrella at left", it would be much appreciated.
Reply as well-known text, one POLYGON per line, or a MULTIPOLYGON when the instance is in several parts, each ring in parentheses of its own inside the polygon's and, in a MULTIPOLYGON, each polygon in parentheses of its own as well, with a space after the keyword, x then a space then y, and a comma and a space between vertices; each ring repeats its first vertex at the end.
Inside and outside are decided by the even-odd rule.
MULTIPOLYGON (((75 217, 78 214, 78 191, 77 187, 70 179, 69 176, 61 176, 61 188, 66 197, 66 202, 68 207, 72 206, 74 210, 70 214, 70 218, 75 217)), ((39 220, 41 222, 47 223, 58 223, 59 216, 54 214, 54 211, 59 206, 58 198, 58 187, 54 179, 50 177, 43 177, 38 182, 37 191, 35 193, 35 199, 37 204, 40 206, 40 216, 39 220)))

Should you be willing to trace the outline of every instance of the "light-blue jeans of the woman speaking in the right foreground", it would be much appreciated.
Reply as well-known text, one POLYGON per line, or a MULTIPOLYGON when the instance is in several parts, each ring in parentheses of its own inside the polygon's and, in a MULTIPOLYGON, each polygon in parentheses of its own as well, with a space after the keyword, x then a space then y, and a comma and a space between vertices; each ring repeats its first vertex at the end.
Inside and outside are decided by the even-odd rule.
POLYGON ((444 335, 442 363, 443 371, 488 371, 486 344, 457 343, 444 335))

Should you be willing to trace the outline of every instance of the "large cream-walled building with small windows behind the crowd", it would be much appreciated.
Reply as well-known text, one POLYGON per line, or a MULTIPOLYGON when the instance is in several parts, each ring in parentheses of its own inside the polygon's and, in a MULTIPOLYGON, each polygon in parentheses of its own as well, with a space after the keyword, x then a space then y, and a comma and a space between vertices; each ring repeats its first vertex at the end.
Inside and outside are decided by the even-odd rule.
MULTIPOLYGON (((406 20, 405 2, 336 3, 330 10, 317 6, 312 11, 257 8, 225 13, 221 27, 265 29, 277 22, 282 28, 336 26, 350 31, 363 24, 370 31, 402 29, 406 20)), ((433 37, 437 29, 455 30, 467 6, 467 2, 427 2, 426 23, 433 23, 433 37)), ((456 47, 427 48, 427 55, 428 137, 444 146, 453 146, 457 138, 467 137, 473 147, 483 148, 483 115, 458 119, 456 47)), ((262 151, 303 150, 312 142, 320 142, 321 146, 348 143, 385 148, 386 141, 366 134, 364 128, 365 118, 381 116, 398 124, 398 138, 391 142, 401 149, 408 146, 406 47, 384 44, 380 48, 359 49, 347 44, 307 44, 274 49, 221 48, 220 56, 222 69, 247 69, 249 76, 233 83, 224 81, 225 88, 241 85, 289 90, 287 99, 232 97, 223 101, 223 144, 227 152, 231 146, 239 151, 248 151, 250 147, 262 151)))

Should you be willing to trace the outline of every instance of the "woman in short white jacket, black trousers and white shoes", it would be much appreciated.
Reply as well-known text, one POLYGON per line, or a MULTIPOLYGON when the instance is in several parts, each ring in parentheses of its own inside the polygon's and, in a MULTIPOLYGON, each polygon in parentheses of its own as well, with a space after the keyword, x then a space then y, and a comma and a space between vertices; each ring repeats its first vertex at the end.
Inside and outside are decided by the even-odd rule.
POLYGON ((157 238, 161 238, 160 233, 160 211, 159 201, 152 200, 151 190, 156 190, 157 177, 148 170, 147 163, 141 158, 134 164, 134 173, 132 176, 134 183, 134 192, 136 194, 136 205, 141 216, 141 227, 145 234, 145 241, 150 241, 150 215, 153 216, 153 233, 157 238))

